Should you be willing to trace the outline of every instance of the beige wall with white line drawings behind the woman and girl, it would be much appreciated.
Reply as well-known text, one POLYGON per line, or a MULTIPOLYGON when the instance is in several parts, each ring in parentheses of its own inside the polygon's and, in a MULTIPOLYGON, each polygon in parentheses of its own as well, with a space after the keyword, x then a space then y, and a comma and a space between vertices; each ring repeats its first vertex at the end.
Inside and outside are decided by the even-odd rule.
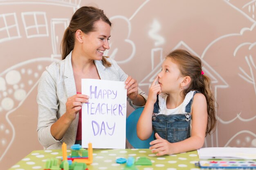
POLYGON ((88 4, 104 9, 113 23, 105 55, 145 92, 172 49, 202 59, 219 104, 218 128, 206 147, 256 147, 254 1, 0 0, 0 167, 43 149, 36 132, 38 79, 60 60, 63 31, 88 4))

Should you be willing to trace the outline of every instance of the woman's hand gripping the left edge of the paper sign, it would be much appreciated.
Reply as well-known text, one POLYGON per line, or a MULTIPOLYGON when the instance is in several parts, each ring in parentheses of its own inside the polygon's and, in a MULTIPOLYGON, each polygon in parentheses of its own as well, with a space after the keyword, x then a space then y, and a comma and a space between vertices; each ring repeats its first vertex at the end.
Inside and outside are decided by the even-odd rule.
POLYGON ((81 110, 83 103, 88 103, 89 96, 84 94, 76 94, 67 98, 66 102, 66 117, 73 121, 76 119, 76 114, 81 110))

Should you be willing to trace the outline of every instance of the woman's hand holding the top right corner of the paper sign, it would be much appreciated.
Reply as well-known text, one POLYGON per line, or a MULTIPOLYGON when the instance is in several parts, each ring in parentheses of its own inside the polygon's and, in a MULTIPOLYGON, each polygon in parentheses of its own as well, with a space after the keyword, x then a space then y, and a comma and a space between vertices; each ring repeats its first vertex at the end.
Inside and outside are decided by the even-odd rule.
POLYGON ((128 78, 125 81, 127 89, 127 96, 128 98, 135 99, 138 96, 138 83, 135 79, 133 79, 131 76, 128 76, 128 78))

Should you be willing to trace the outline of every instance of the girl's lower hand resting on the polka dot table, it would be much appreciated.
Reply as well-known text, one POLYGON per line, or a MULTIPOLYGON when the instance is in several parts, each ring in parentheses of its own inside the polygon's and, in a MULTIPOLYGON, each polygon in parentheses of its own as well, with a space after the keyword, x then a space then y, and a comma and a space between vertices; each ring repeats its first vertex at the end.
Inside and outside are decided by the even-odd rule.
POLYGON ((171 153, 171 143, 166 141, 165 139, 161 138, 159 134, 155 133, 156 140, 150 142, 149 144, 152 145, 149 147, 152 150, 152 153, 158 152, 156 155, 161 156, 164 154, 172 154, 171 153), (155 149, 155 150, 153 150, 155 149))

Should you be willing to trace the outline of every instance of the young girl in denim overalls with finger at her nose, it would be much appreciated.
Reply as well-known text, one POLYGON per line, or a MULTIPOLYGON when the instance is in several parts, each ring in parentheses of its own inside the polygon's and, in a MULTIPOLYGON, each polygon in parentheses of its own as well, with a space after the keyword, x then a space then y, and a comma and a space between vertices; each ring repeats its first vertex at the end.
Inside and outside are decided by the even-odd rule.
POLYGON ((137 135, 146 140, 154 131, 149 149, 157 156, 197 150, 215 130, 214 107, 211 81, 202 71, 200 58, 176 49, 166 56, 149 89, 137 135))

